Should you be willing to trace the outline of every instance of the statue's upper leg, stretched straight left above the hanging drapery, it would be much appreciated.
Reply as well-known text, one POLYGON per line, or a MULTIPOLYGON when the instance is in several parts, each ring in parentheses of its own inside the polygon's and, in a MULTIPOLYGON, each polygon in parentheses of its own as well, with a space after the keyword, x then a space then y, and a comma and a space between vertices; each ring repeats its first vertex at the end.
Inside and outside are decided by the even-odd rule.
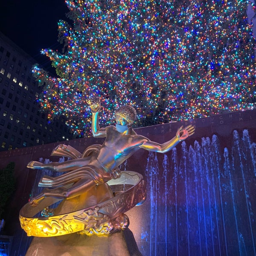
POLYGON ((30 169, 49 169, 56 172, 69 172, 82 166, 86 166, 89 161, 90 157, 68 160, 62 163, 52 162, 44 164, 37 161, 31 161, 28 163, 27 167, 30 169))

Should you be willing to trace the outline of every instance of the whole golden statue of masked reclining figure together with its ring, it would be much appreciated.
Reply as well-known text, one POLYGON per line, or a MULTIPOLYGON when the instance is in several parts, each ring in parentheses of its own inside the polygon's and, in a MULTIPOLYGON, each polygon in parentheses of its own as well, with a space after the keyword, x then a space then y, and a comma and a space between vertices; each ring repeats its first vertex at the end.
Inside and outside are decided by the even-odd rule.
MULTIPOLYGON (((140 148, 165 153, 195 132, 193 125, 180 127, 172 140, 159 144, 136 134, 133 130, 132 124, 136 118, 133 107, 122 106, 115 112, 116 125, 100 128, 99 97, 91 98, 88 104, 92 112, 93 137, 105 137, 105 142, 102 145, 88 147, 83 154, 70 146, 59 145, 53 150, 52 155, 71 157, 72 160, 47 164, 32 161, 27 166, 31 169, 65 172, 57 177, 44 176, 38 184, 44 186, 44 190, 21 209, 20 223, 30 236, 60 236, 78 231, 102 236, 125 229, 129 221, 123 213, 145 199, 145 183, 140 174, 120 172, 118 166, 140 148), (104 196, 101 198, 97 192, 96 205, 58 215, 47 208, 55 201, 79 197, 102 188, 106 183, 112 191, 114 190, 115 195, 112 194, 104 200, 104 196), (128 189, 118 191, 115 189, 118 184, 126 184, 128 189), (35 218, 34 215, 40 210, 43 210, 44 216, 48 212, 51 214, 44 218, 35 218)), ((106 191, 106 188, 103 191, 106 191)))

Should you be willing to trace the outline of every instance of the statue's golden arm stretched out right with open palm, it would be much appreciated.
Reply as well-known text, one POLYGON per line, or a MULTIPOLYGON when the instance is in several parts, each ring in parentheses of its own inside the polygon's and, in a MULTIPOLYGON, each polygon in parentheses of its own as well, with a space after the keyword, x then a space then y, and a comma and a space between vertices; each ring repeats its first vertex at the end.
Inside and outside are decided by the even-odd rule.
POLYGON ((183 128, 183 126, 181 126, 178 129, 176 136, 172 138, 172 140, 169 140, 163 144, 159 144, 151 140, 148 140, 142 145, 140 145, 140 148, 144 148, 148 151, 166 153, 172 148, 174 148, 180 141, 185 140, 187 137, 191 136, 194 133, 195 133, 195 126, 189 125, 186 128, 183 128))

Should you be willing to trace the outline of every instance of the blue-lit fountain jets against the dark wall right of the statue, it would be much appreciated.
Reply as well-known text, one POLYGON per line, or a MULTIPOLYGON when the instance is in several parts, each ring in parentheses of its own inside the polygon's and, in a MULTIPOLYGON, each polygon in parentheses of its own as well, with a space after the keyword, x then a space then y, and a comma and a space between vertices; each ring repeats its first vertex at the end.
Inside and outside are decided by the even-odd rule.
POLYGON ((143 255, 256 256, 256 143, 244 130, 220 144, 213 135, 149 152, 143 255))

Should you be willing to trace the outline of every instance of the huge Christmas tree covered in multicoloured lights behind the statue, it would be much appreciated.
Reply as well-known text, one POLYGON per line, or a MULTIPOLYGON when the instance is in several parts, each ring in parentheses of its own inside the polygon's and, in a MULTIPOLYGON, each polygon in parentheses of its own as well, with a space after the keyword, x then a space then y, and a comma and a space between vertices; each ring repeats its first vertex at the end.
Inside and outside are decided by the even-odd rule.
MULTIPOLYGON (((63 52, 45 49, 58 77, 35 66, 49 119, 65 115, 71 130, 90 134, 92 95, 100 122, 133 105, 137 126, 256 105, 256 41, 244 0, 66 0, 58 23, 63 52)), ((253 5, 253 3, 250 3, 253 5)), ((253 6, 255 12, 255 7, 253 6)))

